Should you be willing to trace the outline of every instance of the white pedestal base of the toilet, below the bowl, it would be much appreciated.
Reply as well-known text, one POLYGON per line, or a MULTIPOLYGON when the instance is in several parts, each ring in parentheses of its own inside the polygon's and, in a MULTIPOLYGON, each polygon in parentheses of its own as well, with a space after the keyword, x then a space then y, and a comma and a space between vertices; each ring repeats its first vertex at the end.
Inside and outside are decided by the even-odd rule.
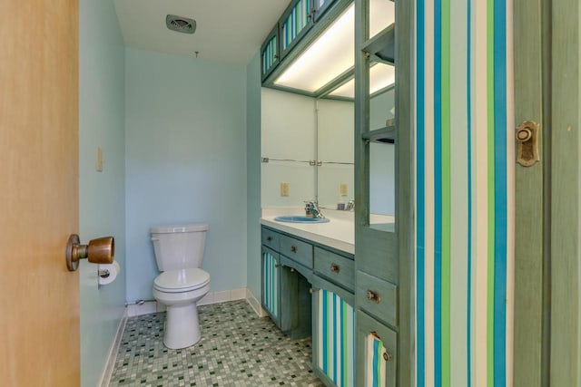
POLYGON ((170 349, 182 349, 200 341, 200 323, 196 303, 168 306, 165 312, 163 344, 170 349))

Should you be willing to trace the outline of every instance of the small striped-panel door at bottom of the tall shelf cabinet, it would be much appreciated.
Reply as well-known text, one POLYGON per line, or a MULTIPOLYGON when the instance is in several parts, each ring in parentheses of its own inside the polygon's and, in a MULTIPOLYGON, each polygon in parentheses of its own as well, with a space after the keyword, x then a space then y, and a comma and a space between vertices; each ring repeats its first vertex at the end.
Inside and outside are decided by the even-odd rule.
POLYGON ((369 315, 357 312, 357 385, 394 387, 398 334, 369 315))

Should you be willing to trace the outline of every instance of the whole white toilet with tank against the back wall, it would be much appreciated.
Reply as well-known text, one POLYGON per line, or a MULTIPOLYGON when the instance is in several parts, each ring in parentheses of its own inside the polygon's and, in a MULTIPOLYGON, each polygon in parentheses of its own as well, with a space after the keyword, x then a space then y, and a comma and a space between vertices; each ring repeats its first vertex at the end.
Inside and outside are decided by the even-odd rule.
POLYGON ((163 344, 180 349, 201 338, 197 302, 210 291, 210 275, 200 266, 208 225, 151 227, 157 267, 153 297, 166 306, 163 344))

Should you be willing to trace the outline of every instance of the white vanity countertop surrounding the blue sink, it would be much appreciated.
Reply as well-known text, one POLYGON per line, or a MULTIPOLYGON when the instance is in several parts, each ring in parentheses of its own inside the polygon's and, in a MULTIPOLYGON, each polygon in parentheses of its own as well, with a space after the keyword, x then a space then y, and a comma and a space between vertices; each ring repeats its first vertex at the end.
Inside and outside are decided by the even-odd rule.
POLYGON ((355 227, 352 211, 323 209, 329 223, 288 223, 274 218, 281 215, 304 215, 304 208, 262 208, 261 224, 303 237, 346 253, 355 254, 355 227))

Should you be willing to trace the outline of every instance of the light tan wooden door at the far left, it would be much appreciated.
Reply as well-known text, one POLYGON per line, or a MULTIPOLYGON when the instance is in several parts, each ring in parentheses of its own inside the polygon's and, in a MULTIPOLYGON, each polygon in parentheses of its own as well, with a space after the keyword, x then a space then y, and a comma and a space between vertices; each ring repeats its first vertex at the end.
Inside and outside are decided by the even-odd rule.
POLYGON ((80 384, 77 0, 0 4, 0 384, 80 384))

